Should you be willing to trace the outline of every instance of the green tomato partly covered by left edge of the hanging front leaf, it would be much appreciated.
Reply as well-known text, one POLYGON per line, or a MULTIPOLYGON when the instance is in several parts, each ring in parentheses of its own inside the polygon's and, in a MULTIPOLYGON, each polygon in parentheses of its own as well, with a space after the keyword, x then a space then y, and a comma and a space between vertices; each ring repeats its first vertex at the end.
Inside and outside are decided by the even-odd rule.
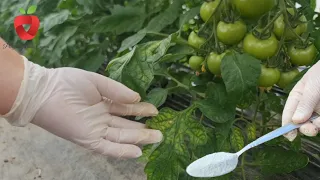
POLYGON ((207 57, 207 67, 212 74, 221 75, 221 60, 227 51, 222 54, 211 52, 207 57))

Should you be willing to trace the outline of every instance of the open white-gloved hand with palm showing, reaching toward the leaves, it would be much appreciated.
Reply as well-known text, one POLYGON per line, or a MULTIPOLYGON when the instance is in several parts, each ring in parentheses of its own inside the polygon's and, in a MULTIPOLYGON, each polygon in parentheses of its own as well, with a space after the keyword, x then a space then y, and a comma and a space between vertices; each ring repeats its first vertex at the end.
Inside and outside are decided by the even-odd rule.
POLYGON ((47 69, 25 57, 16 101, 3 117, 15 126, 29 122, 89 150, 136 158, 136 144, 161 141, 160 131, 119 116, 155 116, 138 93, 102 75, 76 68, 47 69))

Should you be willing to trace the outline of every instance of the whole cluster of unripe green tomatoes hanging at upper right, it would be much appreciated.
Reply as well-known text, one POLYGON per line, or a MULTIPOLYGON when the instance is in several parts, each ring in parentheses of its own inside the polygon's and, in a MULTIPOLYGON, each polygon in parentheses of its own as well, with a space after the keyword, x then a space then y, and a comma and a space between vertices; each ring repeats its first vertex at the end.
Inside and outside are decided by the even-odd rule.
MULTIPOLYGON (((221 0, 222 1, 222 0, 221 0)), ((268 13, 277 4, 277 0, 229 0, 235 7, 235 10, 240 14, 241 18, 226 22, 218 20, 215 26, 215 33, 219 43, 223 43, 227 47, 241 47, 242 52, 261 60, 261 75, 259 78, 259 87, 272 87, 277 84, 280 88, 285 88, 299 74, 298 66, 312 65, 317 55, 317 49, 313 43, 308 43, 304 47, 297 47, 294 43, 286 43, 281 45, 280 41, 283 38, 284 42, 294 42, 305 32, 307 32, 307 19, 304 15, 299 18, 298 23, 293 28, 286 26, 284 14, 281 13, 272 22, 272 30, 269 36, 261 38, 248 30, 244 19, 257 19, 263 14, 268 13), (268 59, 277 56, 281 48, 286 52, 288 62, 291 64, 290 69, 280 70, 278 67, 266 65, 268 59)), ((210 21, 212 14, 219 7, 220 0, 204 2, 200 8, 200 17, 204 22, 210 21)), ((286 8, 287 13, 294 15, 294 8, 286 8)), ((217 9, 217 11, 219 11, 217 9)), ((219 18, 218 18, 219 19, 219 18)), ((292 26, 291 26, 292 27, 292 26)), ((189 45, 201 49, 206 43, 206 39, 199 36, 195 31, 192 31, 188 37, 189 45)), ((189 59, 190 68, 203 72, 204 69, 210 73, 221 75, 221 61, 223 57, 230 52, 229 49, 224 52, 211 52, 205 57, 194 55, 189 59), (205 68, 206 67, 206 68, 205 68)))

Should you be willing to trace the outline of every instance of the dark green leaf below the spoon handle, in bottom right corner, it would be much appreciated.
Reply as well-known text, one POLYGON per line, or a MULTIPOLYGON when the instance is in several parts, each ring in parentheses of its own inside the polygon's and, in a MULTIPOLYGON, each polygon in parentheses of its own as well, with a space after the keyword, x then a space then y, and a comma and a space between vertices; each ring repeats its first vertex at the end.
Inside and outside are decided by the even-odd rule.
POLYGON ((280 147, 265 147, 257 155, 258 164, 264 174, 291 173, 305 167, 308 156, 280 147))

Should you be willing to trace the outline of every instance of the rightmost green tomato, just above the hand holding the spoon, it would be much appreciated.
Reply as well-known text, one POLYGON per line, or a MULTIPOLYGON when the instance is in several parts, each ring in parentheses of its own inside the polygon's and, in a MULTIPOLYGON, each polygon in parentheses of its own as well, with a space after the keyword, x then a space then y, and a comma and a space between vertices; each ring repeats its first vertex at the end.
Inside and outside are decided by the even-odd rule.
POLYGON ((300 49, 291 45, 288 48, 288 55, 292 64, 297 66, 308 66, 313 63, 313 60, 317 55, 317 49, 313 44, 305 49, 300 49))

